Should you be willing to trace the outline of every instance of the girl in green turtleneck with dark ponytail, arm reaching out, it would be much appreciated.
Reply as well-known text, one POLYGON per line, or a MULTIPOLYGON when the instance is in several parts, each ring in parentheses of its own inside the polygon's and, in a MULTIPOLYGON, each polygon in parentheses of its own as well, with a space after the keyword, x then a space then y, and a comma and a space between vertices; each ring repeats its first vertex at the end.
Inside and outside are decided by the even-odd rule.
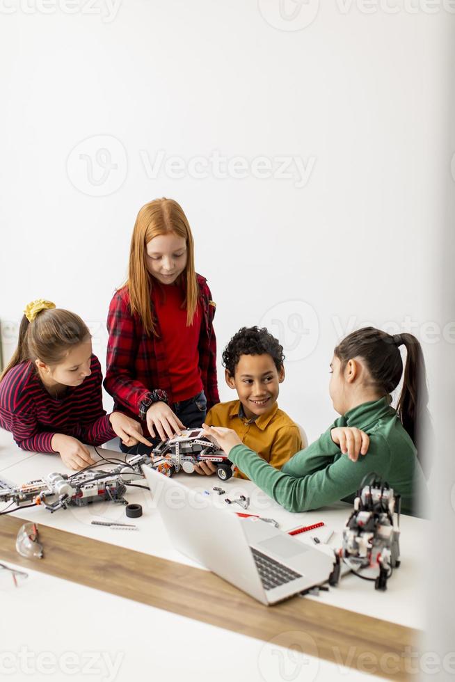
POLYGON ((330 372, 330 398, 341 416, 282 470, 243 445, 231 429, 205 427, 207 435, 216 438, 229 459, 289 512, 306 512, 340 499, 352 502, 365 474, 375 472, 401 494, 402 512, 424 515, 426 486, 415 447, 417 415, 424 402, 420 394, 426 395, 419 342, 412 334, 392 336, 374 327, 362 328, 335 348, 330 372), (390 393, 403 374, 401 345, 407 358, 395 410, 390 393), (358 429, 369 436, 369 445, 367 454, 356 460, 342 450, 346 452, 346 434, 351 440, 354 434, 357 454, 360 445, 365 454, 367 439, 358 429))

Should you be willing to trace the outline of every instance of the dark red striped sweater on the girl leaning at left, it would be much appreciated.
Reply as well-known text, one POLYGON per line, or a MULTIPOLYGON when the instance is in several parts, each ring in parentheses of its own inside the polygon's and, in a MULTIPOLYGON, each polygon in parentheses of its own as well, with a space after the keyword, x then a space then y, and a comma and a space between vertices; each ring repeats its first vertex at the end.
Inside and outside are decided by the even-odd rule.
POLYGON ((92 356, 92 373, 80 386, 68 387, 61 398, 52 397, 33 363, 13 367, 0 382, 0 427, 11 431, 22 450, 54 452, 52 436, 73 436, 88 445, 101 445, 115 433, 103 409, 102 373, 92 356))

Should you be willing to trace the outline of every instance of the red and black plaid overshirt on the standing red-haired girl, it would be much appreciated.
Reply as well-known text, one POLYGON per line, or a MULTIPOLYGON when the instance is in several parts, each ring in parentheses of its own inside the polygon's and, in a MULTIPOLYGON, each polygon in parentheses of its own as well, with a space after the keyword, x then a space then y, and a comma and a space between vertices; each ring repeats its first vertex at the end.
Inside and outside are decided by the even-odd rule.
MULTIPOLYGON (((220 402, 216 381, 216 338, 213 319, 216 305, 211 300, 207 280, 196 274, 202 322, 199 338, 199 368, 207 396, 207 410, 220 402)), ((106 379, 104 388, 115 400, 115 408, 138 418, 141 402, 152 390, 165 390, 173 406, 166 348, 156 324, 157 336, 147 335, 138 315, 129 308, 128 287, 115 292, 107 317, 109 341, 107 345, 106 379)))

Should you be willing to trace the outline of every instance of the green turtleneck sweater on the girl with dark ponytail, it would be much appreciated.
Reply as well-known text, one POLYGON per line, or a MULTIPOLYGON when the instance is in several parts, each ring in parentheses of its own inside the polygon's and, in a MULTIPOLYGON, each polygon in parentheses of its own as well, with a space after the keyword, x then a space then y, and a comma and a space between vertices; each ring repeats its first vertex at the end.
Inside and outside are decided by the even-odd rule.
POLYGON ((280 471, 245 445, 232 447, 229 459, 289 512, 307 512, 338 500, 353 502, 363 477, 374 472, 401 494, 404 514, 425 516, 424 500, 417 500, 418 491, 425 495, 424 475, 413 441, 390 402, 386 396, 346 412, 280 471), (331 429, 346 426, 369 435, 368 452, 356 462, 342 454, 330 437, 331 429))

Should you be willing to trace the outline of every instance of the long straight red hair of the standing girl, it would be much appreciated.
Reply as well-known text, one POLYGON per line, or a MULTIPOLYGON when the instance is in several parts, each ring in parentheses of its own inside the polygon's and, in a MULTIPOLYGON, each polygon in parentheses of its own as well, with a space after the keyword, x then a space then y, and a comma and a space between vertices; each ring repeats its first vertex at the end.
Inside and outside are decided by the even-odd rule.
POLYGON ((138 212, 129 251, 128 279, 131 312, 139 315, 147 334, 156 334, 150 303, 153 278, 147 269, 145 246, 154 237, 173 232, 186 241, 186 267, 180 278, 185 291, 186 326, 191 326, 198 306, 198 280, 194 269, 194 241, 182 207, 173 199, 154 199, 138 212))

